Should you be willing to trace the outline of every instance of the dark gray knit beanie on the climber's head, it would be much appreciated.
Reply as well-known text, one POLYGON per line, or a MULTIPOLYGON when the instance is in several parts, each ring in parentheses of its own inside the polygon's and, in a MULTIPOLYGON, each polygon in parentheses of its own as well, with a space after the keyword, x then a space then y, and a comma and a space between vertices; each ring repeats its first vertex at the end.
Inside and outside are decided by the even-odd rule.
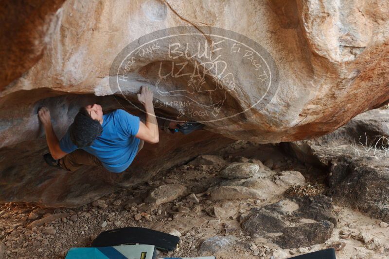
POLYGON ((70 126, 70 139, 78 147, 92 145, 93 141, 103 132, 100 122, 92 119, 85 108, 81 108, 70 126))

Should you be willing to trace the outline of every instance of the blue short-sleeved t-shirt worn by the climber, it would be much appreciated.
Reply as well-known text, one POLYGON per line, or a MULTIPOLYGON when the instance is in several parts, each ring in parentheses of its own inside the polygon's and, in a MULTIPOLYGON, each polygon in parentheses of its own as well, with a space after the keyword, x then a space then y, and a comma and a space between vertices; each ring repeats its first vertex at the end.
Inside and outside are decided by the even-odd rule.
MULTIPOLYGON (((81 149, 97 157, 113 173, 121 173, 131 164, 138 151, 140 118, 124 110, 103 115, 103 132, 91 146, 81 149)), ((71 153, 78 147, 70 139, 69 129, 59 141, 62 151, 71 153)))

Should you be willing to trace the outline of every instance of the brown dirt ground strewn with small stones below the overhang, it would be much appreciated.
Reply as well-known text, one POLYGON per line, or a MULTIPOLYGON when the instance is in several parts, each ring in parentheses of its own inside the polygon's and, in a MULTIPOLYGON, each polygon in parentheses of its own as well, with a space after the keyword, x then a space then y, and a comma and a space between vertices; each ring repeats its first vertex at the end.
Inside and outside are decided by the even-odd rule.
MULTIPOLYGON (((325 193, 327 188, 325 170, 297 161, 285 154, 278 145, 237 141, 213 155, 222 157, 228 163, 257 159, 275 173, 299 171, 305 178, 305 189, 289 188, 287 192, 311 195, 325 193)), ((180 235, 179 247, 173 252, 161 252, 160 257, 213 254, 218 259, 268 259, 271 256, 283 259, 334 247, 337 259, 389 258, 388 226, 341 205, 334 206, 333 212, 338 223, 331 238, 325 243, 281 249, 265 238, 245 235, 239 216, 251 208, 276 202, 283 195, 269 194, 264 199, 212 200, 209 188, 221 183, 218 172, 222 167, 214 164, 194 165, 189 162, 160 172, 136 188, 122 189, 80 208, 2 204, 0 259, 64 258, 71 247, 87 247, 102 231, 119 227, 147 227, 180 235), (184 195, 167 203, 156 205, 143 202, 150 192, 166 184, 179 184, 187 189, 184 195), (194 200, 193 194, 198 202, 194 200), (189 197, 190 195, 192 196, 189 197), (213 215, 209 213, 209 208, 216 207, 221 211, 213 211, 213 215), (237 239, 231 247, 210 252, 201 244, 213 236, 233 236, 237 239)))

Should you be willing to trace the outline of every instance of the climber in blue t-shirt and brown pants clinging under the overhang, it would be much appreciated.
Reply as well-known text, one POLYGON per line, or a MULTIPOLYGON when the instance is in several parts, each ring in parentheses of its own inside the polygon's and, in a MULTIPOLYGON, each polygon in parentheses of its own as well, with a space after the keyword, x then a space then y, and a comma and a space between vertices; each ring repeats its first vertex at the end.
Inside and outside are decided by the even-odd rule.
POLYGON ((50 111, 41 107, 38 116, 44 126, 50 150, 50 153, 44 155, 45 162, 68 171, 75 171, 83 165, 99 165, 110 172, 121 173, 134 160, 144 142, 159 142, 159 125, 166 132, 180 131, 184 134, 204 126, 191 122, 177 124, 157 118, 153 93, 148 86, 141 87, 138 100, 147 113, 145 118, 121 109, 103 115, 102 107, 98 104, 80 108, 60 141, 54 133, 50 111))

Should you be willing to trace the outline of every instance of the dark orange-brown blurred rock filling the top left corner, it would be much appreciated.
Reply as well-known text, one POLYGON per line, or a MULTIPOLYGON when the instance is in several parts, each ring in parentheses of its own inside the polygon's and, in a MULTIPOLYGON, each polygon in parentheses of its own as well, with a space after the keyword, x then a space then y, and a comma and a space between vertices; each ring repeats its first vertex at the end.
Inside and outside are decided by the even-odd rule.
POLYGON ((0 91, 42 58, 64 0, 5 1, 0 6, 0 91))

